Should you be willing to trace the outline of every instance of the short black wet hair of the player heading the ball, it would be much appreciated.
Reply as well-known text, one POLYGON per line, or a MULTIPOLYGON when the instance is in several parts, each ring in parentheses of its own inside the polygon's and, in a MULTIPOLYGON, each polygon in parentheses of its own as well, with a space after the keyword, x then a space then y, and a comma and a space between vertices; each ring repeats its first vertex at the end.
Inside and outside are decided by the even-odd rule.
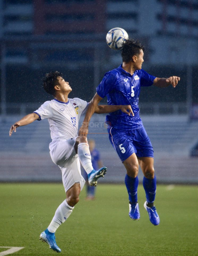
POLYGON ((134 55, 139 55, 140 51, 143 50, 144 46, 138 41, 128 39, 122 43, 121 56, 123 62, 129 62, 132 60, 134 55))

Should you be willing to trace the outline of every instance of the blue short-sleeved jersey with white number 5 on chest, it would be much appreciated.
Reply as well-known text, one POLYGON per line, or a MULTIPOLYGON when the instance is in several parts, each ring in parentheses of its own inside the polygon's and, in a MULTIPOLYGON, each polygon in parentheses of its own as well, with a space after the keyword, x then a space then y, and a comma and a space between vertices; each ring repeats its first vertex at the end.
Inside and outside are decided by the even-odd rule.
POLYGON ((102 98, 107 96, 108 105, 131 105, 134 112, 133 117, 118 110, 107 115, 106 121, 116 129, 131 130, 142 127, 138 107, 140 86, 151 86, 155 78, 143 69, 136 70, 131 75, 122 68, 122 65, 105 73, 96 88, 98 95, 102 98))

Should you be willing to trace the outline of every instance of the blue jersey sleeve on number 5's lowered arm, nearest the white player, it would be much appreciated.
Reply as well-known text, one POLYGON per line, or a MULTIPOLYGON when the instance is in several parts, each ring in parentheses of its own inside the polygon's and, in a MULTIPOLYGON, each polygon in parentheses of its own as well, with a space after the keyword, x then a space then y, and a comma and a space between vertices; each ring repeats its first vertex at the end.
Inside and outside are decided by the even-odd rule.
POLYGON ((96 92, 101 98, 104 98, 113 90, 117 77, 113 73, 106 73, 101 83, 96 87, 96 92))

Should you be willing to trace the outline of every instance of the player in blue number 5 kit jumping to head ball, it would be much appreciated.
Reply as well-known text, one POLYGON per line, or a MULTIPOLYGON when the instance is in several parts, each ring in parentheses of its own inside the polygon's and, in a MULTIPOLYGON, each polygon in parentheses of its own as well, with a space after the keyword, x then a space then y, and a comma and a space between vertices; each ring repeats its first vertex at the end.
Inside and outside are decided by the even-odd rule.
POLYGON ((137 201, 138 168, 143 171, 143 187, 146 192, 144 208, 149 219, 155 226, 160 218, 154 206, 156 194, 156 176, 154 172, 154 155, 150 139, 144 129, 139 115, 140 88, 144 86, 176 87, 180 77, 158 78, 142 69, 144 47, 133 39, 128 39, 121 50, 122 65, 104 75, 91 100, 79 136, 87 136, 88 123, 98 102, 107 96, 108 105, 131 105, 134 114, 122 113, 120 110, 110 113, 106 117, 109 124, 109 139, 124 164, 127 174, 125 185, 129 195, 129 216, 133 220, 140 219, 137 201))

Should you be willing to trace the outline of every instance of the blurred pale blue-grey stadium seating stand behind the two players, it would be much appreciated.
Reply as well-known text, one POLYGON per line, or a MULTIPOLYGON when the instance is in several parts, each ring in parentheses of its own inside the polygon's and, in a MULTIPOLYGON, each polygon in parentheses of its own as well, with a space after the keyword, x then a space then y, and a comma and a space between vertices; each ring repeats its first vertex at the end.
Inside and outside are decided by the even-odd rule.
MULTIPOLYGON (((49 156, 51 141, 47 120, 20 127, 12 137, 9 129, 20 117, 1 120, 0 181, 61 181, 61 172, 49 156)), ((82 122, 82 117, 79 124, 82 122)), ((104 128, 104 115, 91 119, 89 136, 96 141, 108 173, 102 182, 123 182, 125 170, 113 150, 104 128), (112 178, 113 177, 113 178, 112 178)), ((190 157, 190 149, 197 141, 197 122, 187 116, 142 116, 155 153, 158 182, 198 182, 198 158, 190 157)), ((139 172, 140 181, 143 178, 139 172)))

